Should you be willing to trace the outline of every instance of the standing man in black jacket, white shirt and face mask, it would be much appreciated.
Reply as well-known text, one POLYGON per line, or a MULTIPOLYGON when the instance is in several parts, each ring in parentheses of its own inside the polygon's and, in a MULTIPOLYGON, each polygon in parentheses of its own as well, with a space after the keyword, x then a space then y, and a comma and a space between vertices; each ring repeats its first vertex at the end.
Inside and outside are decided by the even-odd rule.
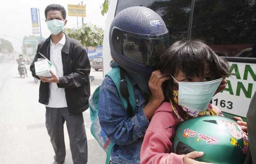
POLYGON ((51 35, 38 45, 30 66, 32 76, 41 79, 39 102, 46 106, 46 127, 55 151, 53 164, 65 160, 63 124, 66 121, 74 164, 87 163, 87 137, 82 112, 88 108, 90 96, 90 62, 81 43, 62 31, 67 24, 66 11, 52 4, 45 9, 51 35), (35 74, 35 61, 44 54, 52 63, 52 77, 35 74))

